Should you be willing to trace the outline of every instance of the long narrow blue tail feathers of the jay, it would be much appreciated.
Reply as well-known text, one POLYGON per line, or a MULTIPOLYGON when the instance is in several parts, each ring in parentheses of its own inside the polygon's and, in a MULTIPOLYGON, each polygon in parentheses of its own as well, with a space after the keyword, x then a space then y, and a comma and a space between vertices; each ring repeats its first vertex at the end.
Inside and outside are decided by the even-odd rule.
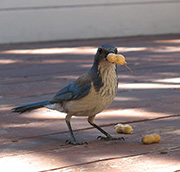
POLYGON ((29 103, 29 104, 25 104, 25 105, 21 105, 21 106, 13 108, 12 112, 24 113, 26 111, 31 111, 31 110, 34 110, 34 109, 44 107, 44 106, 46 106, 48 104, 49 104, 49 100, 36 102, 36 103, 29 103))

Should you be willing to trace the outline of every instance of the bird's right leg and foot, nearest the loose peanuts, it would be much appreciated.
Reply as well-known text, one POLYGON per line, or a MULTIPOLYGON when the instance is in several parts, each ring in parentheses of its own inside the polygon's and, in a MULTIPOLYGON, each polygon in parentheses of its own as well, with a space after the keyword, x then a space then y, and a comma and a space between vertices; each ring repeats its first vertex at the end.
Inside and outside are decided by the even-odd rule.
POLYGON ((101 133, 103 133, 106 136, 106 137, 98 136, 98 139, 100 140, 125 140, 123 137, 118 137, 118 138, 112 137, 109 133, 107 133, 101 127, 99 127, 98 125, 94 123, 94 117, 95 116, 89 116, 88 118, 89 124, 91 124, 93 127, 98 129, 101 133))

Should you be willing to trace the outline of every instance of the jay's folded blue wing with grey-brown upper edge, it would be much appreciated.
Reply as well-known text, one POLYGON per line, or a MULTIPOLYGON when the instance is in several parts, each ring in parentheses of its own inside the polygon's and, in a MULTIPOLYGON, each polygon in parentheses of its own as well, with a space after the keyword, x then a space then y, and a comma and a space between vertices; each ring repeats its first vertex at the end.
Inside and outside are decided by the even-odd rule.
POLYGON ((50 102, 61 103, 62 101, 77 100, 86 96, 90 89, 90 79, 87 77, 80 77, 76 81, 61 89, 50 102))

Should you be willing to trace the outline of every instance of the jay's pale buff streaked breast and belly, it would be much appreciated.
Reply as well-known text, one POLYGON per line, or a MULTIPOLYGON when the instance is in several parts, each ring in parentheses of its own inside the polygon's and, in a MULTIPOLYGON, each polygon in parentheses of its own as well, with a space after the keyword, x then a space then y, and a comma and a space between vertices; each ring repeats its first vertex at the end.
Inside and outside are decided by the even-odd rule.
POLYGON ((64 102, 64 109, 74 116, 91 116, 107 108, 117 92, 116 66, 99 68, 103 86, 97 91, 91 83, 89 94, 79 100, 64 102))

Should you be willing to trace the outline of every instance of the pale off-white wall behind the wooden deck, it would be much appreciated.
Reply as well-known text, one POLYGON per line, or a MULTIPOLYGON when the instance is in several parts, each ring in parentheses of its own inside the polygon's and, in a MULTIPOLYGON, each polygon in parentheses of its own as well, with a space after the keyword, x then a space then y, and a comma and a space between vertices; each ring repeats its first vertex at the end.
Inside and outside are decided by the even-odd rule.
POLYGON ((0 43, 180 33, 179 0, 1 0, 0 43))

